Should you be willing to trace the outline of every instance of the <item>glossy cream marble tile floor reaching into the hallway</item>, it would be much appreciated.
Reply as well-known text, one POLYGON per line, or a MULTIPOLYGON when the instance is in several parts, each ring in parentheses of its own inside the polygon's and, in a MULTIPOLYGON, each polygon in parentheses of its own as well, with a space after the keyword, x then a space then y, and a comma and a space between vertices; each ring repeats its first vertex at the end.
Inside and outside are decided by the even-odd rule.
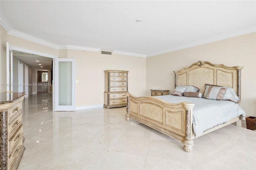
POLYGON ((228 125, 194 140, 178 140, 125 120, 126 107, 53 112, 52 95, 23 104, 26 152, 18 170, 255 170, 256 130, 228 125))

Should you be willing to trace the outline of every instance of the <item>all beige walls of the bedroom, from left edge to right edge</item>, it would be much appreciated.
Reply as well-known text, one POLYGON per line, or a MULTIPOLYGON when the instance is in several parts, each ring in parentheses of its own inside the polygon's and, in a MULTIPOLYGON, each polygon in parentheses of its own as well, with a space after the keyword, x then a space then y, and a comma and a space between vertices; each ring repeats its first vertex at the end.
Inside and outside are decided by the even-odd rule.
MULTIPOLYGON (((103 105, 104 70, 127 70, 128 90, 136 96, 150 95, 150 89, 174 90, 174 73, 196 61, 229 66, 243 65, 242 108, 256 116, 256 33, 190 47, 153 57, 103 55, 100 52, 55 49, 8 35, 1 27, 0 83, 6 83, 6 42, 59 57, 76 59, 76 107, 103 105), (248 90, 250 89, 250 91, 248 90)), ((34 77, 34 69, 30 69, 34 77)), ((34 80, 32 80, 34 82, 34 80)), ((33 87, 34 88, 34 87, 33 87)), ((0 87, 1 92, 6 87, 0 87)), ((34 91, 34 89, 33 89, 34 91)))

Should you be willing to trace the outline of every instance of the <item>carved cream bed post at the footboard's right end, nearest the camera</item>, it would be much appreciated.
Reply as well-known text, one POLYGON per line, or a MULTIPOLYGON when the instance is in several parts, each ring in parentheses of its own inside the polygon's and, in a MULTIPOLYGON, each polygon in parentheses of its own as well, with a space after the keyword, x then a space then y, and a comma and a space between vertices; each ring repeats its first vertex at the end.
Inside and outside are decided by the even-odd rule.
POLYGON ((194 146, 194 141, 192 140, 192 108, 194 104, 185 103, 184 107, 186 108, 186 136, 182 142, 184 144, 183 149, 186 152, 192 152, 194 146))

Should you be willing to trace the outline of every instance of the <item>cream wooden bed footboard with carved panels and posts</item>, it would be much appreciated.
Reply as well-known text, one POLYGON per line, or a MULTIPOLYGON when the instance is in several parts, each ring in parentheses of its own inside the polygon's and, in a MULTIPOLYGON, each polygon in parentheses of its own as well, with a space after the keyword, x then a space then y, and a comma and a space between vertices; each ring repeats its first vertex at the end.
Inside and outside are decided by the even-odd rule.
POLYGON ((194 103, 172 104, 156 97, 135 97, 127 93, 126 120, 134 119, 183 143, 192 152, 192 108, 194 103))

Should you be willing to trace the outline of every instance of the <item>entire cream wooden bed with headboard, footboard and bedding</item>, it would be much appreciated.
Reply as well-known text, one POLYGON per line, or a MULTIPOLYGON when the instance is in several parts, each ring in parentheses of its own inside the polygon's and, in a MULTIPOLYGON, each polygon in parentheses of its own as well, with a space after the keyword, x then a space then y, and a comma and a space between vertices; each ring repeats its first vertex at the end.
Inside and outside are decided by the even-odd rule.
MULTIPOLYGON (((196 87, 200 89, 200 91, 193 93, 201 93, 202 98, 191 96, 184 97, 183 95, 185 93, 183 92, 182 96, 166 95, 159 97, 135 97, 131 93, 127 93, 126 120, 134 119, 148 127, 180 140, 184 150, 186 152, 192 152, 194 146, 193 140, 195 138, 235 122, 237 126, 242 126, 245 113, 242 108, 240 108, 239 104, 236 104, 241 101, 242 68, 242 66, 229 67, 223 64, 212 64, 208 61, 198 61, 180 71, 174 71, 174 93, 176 89, 180 87, 196 87), (221 94, 220 91, 224 90, 223 95, 220 95, 222 98, 211 100, 209 93, 214 91, 212 89, 219 89, 218 97, 219 94, 221 94), (236 102, 223 98, 224 95, 227 94, 226 91, 229 89, 234 91, 234 95, 238 98, 236 102), (198 104, 198 101, 204 101, 206 103, 198 104), (201 115, 208 113, 207 110, 204 110, 204 106, 211 104, 207 102, 216 103, 216 105, 218 105, 219 110, 217 109, 214 114, 226 115, 231 112, 230 108, 233 107, 237 108, 239 113, 235 113, 237 115, 225 116, 222 122, 217 122, 214 125, 209 125, 209 123, 212 123, 213 120, 219 116, 212 113, 208 114, 201 120, 200 126, 205 128, 200 129, 200 127, 198 130, 196 126, 198 126, 199 123, 195 123, 194 121, 195 119, 200 120, 200 118, 195 117, 198 115, 198 110, 202 110, 203 114, 201 113, 201 115), (224 112, 224 114, 219 113, 220 110, 224 112), (206 125, 209 126, 207 127, 206 125)), ((210 110, 213 109, 210 108, 210 110)))

